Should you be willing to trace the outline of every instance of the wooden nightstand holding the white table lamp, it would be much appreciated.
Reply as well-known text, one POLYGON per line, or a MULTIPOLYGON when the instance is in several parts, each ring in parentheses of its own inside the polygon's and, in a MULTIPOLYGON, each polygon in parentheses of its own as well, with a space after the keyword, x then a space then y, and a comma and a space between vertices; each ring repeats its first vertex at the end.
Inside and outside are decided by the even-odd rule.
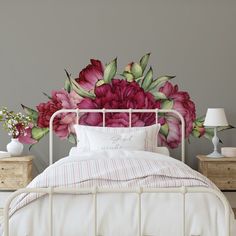
POLYGON ((221 190, 236 190, 236 157, 208 158, 197 155, 198 171, 221 190))

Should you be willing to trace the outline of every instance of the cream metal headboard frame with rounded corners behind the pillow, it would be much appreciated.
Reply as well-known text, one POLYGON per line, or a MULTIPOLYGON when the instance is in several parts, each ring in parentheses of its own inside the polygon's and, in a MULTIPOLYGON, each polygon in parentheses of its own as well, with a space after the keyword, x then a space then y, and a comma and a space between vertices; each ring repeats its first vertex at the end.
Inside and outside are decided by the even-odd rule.
MULTIPOLYGON (((158 123, 159 113, 173 113, 177 115, 181 122, 181 161, 185 162, 185 122, 183 116, 173 109, 61 109, 56 111, 50 118, 49 124, 49 165, 53 164, 53 121, 54 118, 61 113, 76 113, 76 121, 79 123, 80 114, 82 113, 102 113, 103 127, 106 123, 106 113, 128 113, 129 114, 129 127, 132 126, 132 113, 155 113, 156 124, 158 123)), ((127 127, 127 128, 129 128, 127 127)))

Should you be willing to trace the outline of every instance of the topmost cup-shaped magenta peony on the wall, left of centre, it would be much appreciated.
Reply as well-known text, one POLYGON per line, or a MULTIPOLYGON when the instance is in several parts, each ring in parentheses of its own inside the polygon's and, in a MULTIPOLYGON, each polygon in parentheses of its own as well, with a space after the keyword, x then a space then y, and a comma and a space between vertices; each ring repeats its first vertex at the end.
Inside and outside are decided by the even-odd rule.
POLYGON ((103 79, 103 65, 101 61, 91 59, 91 64, 84 68, 79 77, 75 81, 85 90, 91 91, 94 89, 98 80, 103 79))

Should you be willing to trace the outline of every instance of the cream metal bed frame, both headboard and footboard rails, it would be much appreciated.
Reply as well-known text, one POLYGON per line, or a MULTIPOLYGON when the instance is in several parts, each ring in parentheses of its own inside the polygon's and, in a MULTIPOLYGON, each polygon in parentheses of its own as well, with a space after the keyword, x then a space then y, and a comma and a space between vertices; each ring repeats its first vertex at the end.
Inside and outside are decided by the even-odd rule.
MULTIPOLYGON (((49 134, 49 164, 53 164, 53 120, 54 118, 61 114, 61 113, 76 113, 77 114, 77 123, 79 121, 79 115, 81 113, 102 113, 103 114, 103 126, 105 126, 105 115, 106 113, 119 113, 125 112, 129 113, 129 127, 131 127, 132 121, 132 113, 155 113, 156 114, 156 123, 158 122, 158 113, 174 113, 177 115, 181 121, 181 132, 182 132, 182 140, 181 140, 181 160, 185 161, 185 146, 184 146, 184 134, 185 134, 185 125, 184 119, 182 115, 175 110, 164 110, 164 109, 63 109, 55 112, 51 119, 50 119, 50 134, 49 134)), ((145 236, 142 234, 141 229, 141 197, 142 193, 180 193, 182 194, 182 235, 186 236, 186 215, 185 215, 185 196, 188 193, 209 193, 213 194, 219 198, 221 203, 224 206, 224 219, 225 219, 225 234, 222 236, 230 236, 230 206, 225 199, 224 195, 216 191, 214 189, 204 188, 204 187, 175 187, 175 188, 135 188, 135 189, 128 189, 128 188, 117 188, 117 189, 108 189, 108 188, 64 188, 64 187, 48 187, 48 188, 23 188, 17 190, 16 192, 12 193, 10 197, 7 199, 7 202, 4 207, 4 236, 9 235, 9 210, 10 204, 14 198, 19 196, 22 193, 45 193, 48 194, 48 201, 49 201, 49 210, 48 210, 48 219, 49 219, 49 230, 48 235, 53 236, 53 195, 54 194, 92 194, 93 195, 93 202, 94 202, 94 236, 98 236, 97 233, 97 195, 99 193, 137 193, 138 194, 138 236, 145 236)), ((101 235, 99 235, 101 236, 101 235)), ((151 236, 151 235, 149 235, 151 236)))

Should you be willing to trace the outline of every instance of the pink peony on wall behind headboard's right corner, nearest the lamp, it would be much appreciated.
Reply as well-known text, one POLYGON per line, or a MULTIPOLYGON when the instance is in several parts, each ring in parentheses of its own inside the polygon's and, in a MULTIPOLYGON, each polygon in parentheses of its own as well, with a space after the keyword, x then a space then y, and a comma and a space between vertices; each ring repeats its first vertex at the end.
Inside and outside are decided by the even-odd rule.
MULTIPOLYGON (((193 122, 196 119, 195 105, 190 100, 187 92, 178 91, 178 86, 173 86, 170 82, 166 82, 164 86, 159 89, 164 93, 169 100, 173 101, 173 109, 182 114, 185 120, 185 136, 189 137, 193 129, 193 122)), ((171 148, 176 148, 181 142, 181 124, 177 117, 171 115, 166 116, 163 124, 169 127, 168 135, 160 136, 160 144, 168 144, 171 148)))

